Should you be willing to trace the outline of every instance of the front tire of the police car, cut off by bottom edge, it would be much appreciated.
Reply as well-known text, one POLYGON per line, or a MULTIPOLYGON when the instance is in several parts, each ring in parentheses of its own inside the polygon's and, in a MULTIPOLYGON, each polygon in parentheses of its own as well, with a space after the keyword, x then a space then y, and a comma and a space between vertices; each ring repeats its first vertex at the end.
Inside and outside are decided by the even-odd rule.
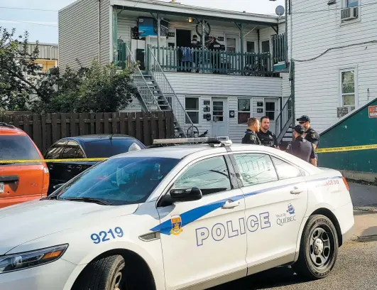
POLYGON ((91 262, 80 275, 74 290, 114 290, 116 284, 126 289, 125 262, 120 255, 104 257, 91 262))

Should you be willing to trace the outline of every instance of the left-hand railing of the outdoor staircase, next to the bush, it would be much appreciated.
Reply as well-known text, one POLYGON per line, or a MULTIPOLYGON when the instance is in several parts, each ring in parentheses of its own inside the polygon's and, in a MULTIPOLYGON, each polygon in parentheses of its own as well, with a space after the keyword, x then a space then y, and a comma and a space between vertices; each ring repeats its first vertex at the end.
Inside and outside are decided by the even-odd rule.
POLYGON ((122 45, 126 46, 126 49, 129 55, 126 65, 130 66, 130 64, 132 64, 132 68, 134 70, 134 73, 132 75, 133 83, 136 86, 136 89, 138 90, 138 94, 139 94, 138 99, 139 99, 139 102, 141 102, 141 106, 147 112, 161 111, 157 100, 155 100, 155 96, 153 95, 151 87, 149 87, 148 82, 143 76, 143 73, 141 73, 140 68, 138 68, 138 62, 135 60, 135 58, 133 58, 133 55, 131 53, 131 50, 129 49, 129 46, 126 45, 126 43, 122 43, 122 45))

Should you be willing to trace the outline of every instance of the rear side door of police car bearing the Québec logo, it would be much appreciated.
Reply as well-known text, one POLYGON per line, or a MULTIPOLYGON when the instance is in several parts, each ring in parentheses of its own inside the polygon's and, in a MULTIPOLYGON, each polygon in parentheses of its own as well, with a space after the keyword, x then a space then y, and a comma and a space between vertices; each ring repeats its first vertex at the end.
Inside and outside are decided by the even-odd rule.
POLYGON ((305 177, 293 164, 268 154, 237 153, 234 158, 244 183, 248 274, 266 262, 293 262, 307 209, 305 177))

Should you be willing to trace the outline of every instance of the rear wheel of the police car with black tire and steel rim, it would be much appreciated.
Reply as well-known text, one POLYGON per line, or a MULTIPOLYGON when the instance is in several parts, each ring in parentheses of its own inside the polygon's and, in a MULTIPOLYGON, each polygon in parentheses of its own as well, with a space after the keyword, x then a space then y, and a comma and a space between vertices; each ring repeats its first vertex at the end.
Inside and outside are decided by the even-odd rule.
POLYGON ((308 279, 325 278, 337 262, 338 247, 337 229, 332 221, 324 215, 310 216, 302 232, 300 252, 297 262, 292 265, 293 271, 308 279))

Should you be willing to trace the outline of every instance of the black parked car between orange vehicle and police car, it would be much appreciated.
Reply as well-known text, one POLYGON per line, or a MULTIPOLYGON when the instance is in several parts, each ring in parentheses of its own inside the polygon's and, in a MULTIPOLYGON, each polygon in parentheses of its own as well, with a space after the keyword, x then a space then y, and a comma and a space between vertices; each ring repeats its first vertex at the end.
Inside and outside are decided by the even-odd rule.
MULTIPOLYGON (((51 145, 44 157, 45 159, 107 158, 129 151, 132 144, 138 145, 140 149, 146 149, 146 146, 141 141, 127 135, 102 134, 67 137, 51 145)), ((49 162, 50 186, 48 194, 55 190, 54 186, 70 181, 70 179, 98 162, 49 162)))

